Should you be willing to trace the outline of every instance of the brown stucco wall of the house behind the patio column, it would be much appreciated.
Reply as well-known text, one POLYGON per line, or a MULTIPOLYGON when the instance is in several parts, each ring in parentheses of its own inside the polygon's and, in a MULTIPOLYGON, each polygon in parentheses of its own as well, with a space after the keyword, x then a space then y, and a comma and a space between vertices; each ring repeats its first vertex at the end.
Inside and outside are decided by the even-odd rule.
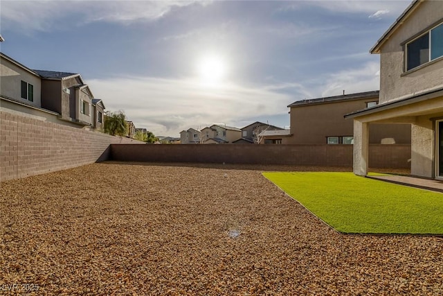
MULTIPOLYGON (((377 97, 334 103, 320 103, 291 107, 291 144, 325 144, 327 137, 352 136, 354 123, 344 119, 345 114, 363 110, 366 103, 377 101, 377 97)), ((381 139, 394 138, 395 143, 410 143, 410 125, 383 124, 370 126, 370 143, 381 143, 381 139)))

